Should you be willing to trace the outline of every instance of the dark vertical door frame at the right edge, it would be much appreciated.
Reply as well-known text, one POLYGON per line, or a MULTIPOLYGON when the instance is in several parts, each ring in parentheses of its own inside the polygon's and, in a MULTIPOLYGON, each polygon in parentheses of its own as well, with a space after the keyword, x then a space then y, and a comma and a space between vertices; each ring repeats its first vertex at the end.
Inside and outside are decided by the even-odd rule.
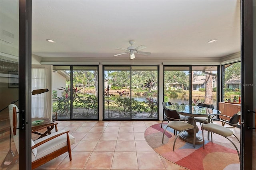
MULTIPOLYGON (((241 1, 241 170, 252 170, 253 114, 253 1, 241 1)), ((255 6, 254 6, 255 8, 255 6)), ((255 88, 255 87, 254 87, 255 88)), ((255 145, 255 144, 254 144, 255 145)), ((254 162, 255 163, 255 162, 254 162)))

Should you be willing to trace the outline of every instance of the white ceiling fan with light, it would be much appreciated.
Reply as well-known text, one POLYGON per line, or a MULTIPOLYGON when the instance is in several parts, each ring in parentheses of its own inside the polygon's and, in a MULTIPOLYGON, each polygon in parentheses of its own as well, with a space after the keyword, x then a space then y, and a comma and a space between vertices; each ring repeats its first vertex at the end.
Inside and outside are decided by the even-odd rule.
POLYGON ((121 54, 116 54, 116 55, 114 55, 114 56, 120 56, 120 55, 122 55, 122 54, 128 54, 128 53, 130 53, 130 59, 132 60, 132 59, 135 58, 135 53, 136 53, 136 54, 143 54, 143 55, 150 55, 150 54, 151 54, 151 52, 143 52, 143 51, 140 51, 140 50, 146 48, 146 46, 140 45, 140 46, 134 48, 134 46, 132 46, 132 45, 134 44, 134 41, 129 41, 129 43, 131 44, 131 46, 128 47, 127 49, 125 49, 125 48, 120 48, 120 47, 119 47, 119 48, 116 48, 117 50, 121 50, 121 51, 125 51, 125 52, 124 52, 124 53, 121 53, 121 54))

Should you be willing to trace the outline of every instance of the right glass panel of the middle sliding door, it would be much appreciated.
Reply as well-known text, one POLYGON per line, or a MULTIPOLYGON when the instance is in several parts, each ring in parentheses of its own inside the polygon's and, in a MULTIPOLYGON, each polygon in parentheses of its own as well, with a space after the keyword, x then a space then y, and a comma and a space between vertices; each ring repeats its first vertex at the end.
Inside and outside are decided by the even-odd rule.
POLYGON ((158 118, 158 66, 132 66, 132 119, 158 118))

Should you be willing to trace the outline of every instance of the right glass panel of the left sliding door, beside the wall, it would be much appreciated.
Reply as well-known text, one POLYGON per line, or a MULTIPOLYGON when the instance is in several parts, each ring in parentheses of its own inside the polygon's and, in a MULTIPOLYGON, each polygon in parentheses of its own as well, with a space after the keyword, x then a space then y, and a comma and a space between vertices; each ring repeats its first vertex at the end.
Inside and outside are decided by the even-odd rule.
POLYGON ((98 66, 73 66, 72 118, 98 119, 98 66))

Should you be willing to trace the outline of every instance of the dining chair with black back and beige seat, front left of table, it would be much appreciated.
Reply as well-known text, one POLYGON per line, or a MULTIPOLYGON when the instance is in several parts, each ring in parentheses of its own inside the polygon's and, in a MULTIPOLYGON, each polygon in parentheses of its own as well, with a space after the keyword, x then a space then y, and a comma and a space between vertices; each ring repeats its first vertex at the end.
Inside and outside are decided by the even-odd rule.
POLYGON ((176 135, 174 139, 174 144, 173 144, 173 151, 175 147, 176 140, 178 136, 184 132, 185 130, 194 130, 194 138, 193 138, 193 147, 196 145, 196 121, 194 120, 194 125, 188 124, 186 122, 183 122, 180 120, 180 114, 178 114, 177 110, 168 110, 164 108, 165 116, 170 122, 167 124, 166 128, 164 129, 163 137, 162 137, 162 144, 164 143, 164 134, 165 131, 168 127, 172 128, 175 131, 178 131, 179 133, 176 135))

